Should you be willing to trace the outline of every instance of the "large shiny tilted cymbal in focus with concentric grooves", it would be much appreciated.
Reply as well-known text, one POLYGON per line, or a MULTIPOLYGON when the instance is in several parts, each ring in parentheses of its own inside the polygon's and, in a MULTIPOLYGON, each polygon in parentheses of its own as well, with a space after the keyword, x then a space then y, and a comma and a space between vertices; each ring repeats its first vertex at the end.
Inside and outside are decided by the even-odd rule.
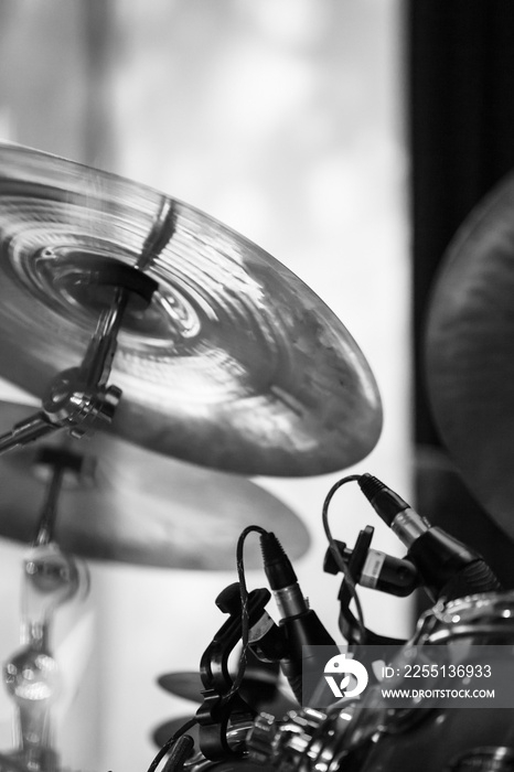
POLYGON ((124 318, 114 433, 213 469, 286 476, 343 469, 376 444, 379 395, 347 330, 285 266, 202 212, 4 144, 0 234, 0 375, 31 394, 82 362, 99 312, 90 266, 117 261, 159 289, 124 318))

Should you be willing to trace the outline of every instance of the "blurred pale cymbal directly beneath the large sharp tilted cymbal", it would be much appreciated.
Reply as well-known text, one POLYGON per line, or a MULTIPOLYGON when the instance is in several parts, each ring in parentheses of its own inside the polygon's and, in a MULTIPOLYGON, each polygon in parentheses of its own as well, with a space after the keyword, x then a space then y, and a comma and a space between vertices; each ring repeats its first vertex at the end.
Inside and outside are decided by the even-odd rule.
MULTIPOLYGON (((0 403, 0 422, 12 426, 33 408, 0 403)), ((53 436, 0 458, 0 535, 32 543, 46 480, 36 460, 53 436)), ((306 553, 302 522, 263 487, 153 453, 105 433, 68 441, 96 461, 94 472, 64 485, 55 539, 77 556, 142 566, 235 569, 239 533, 250 524, 274 530, 291 559, 306 553)), ((263 565, 258 538, 245 543, 245 566, 263 565)))

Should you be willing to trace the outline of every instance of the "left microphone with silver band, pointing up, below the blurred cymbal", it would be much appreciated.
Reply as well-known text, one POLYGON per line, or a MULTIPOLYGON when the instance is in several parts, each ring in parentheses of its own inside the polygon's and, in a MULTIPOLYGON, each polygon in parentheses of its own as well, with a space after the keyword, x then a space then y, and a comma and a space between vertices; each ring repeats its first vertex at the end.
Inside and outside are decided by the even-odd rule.
MULTIPOLYGON (((281 616, 279 625, 286 639, 287 656, 280 661, 280 666, 301 705, 302 673, 320 672, 315 646, 334 646, 335 653, 339 653, 339 648, 318 614, 309 608, 291 561, 275 534, 263 534, 260 548, 266 577, 281 616)), ((306 679, 303 683, 307 685, 306 679)))

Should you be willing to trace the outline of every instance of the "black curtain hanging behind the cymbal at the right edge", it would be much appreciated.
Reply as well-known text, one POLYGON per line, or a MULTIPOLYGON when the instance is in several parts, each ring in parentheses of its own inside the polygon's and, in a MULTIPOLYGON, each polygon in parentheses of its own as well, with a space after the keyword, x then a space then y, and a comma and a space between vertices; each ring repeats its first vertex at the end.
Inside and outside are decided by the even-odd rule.
POLYGON ((445 458, 422 365, 430 288, 445 250, 474 204, 514 168, 514 2, 406 0, 406 10, 418 503, 485 557, 490 551, 514 586, 514 548, 445 458))

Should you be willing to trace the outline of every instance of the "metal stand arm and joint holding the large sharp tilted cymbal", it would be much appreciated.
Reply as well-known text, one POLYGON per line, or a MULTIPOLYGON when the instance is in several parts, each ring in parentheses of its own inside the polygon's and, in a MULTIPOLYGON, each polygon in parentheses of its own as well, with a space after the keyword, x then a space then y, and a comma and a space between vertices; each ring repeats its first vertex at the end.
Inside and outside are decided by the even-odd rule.
POLYGON ((108 287, 111 297, 100 311, 83 363, 52 380, 42 410, 0 436, 0 455, 58 429, 68 429, 72 437, 81 438, 92 433, 98 423, 110 423, 114 418, 121 389, 107 386, 107 380, 124 314, 129 301, 138 302, 138 311, 147 308, 158 285, 140 270, 117 260, 92 258, 90 264, 94 270, 89 283, 101 288, 103 294, 108 287))

